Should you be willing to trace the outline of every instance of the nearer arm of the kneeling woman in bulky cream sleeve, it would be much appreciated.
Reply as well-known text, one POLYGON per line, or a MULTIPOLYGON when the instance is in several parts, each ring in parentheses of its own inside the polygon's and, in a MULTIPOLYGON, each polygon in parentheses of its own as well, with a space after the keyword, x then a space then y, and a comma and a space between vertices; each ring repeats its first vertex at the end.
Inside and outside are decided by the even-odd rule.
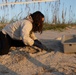
POLYGON ((34 44, 34 40, 30 37, 30 31, 32 30, 32 23, 29 21, 25 21, 21 25, 21 37, 25 45, 32 46, 34 44))

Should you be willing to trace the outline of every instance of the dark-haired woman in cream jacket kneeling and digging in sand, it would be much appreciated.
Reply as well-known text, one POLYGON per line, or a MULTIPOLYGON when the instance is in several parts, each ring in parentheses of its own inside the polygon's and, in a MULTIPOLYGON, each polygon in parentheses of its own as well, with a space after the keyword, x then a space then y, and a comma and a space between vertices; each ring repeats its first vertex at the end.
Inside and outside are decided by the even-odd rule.
POLYGON ((44 45, 34 34, 42 33, 43 21, 44 15, 36 11, 23 20, 6 25, 0 31, 0 55, 8 54, 10 47, 36 46, 43 50, 44 45))

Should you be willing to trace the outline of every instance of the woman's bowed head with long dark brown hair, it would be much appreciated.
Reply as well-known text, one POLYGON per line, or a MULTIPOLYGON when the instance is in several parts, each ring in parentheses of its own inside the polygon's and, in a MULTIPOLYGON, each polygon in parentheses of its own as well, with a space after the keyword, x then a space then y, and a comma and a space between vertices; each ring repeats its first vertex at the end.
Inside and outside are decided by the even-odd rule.
POLYGON ((31 17, 33 19, 32 31, 34 31, 34 32, 38 31, 38 32, 42 33, 44 15, 40 11, 36 11, 33 14, 31 14, 31 17))

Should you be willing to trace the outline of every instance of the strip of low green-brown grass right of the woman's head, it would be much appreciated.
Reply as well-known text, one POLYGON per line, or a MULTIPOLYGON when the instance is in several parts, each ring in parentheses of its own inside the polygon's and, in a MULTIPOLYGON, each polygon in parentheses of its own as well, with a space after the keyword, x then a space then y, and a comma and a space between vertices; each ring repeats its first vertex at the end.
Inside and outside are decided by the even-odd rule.
POLYGON ((63 31, 66 28, 76 27, 76 24, 48 24, 44 23, 43 30, 59 30, 63 31))

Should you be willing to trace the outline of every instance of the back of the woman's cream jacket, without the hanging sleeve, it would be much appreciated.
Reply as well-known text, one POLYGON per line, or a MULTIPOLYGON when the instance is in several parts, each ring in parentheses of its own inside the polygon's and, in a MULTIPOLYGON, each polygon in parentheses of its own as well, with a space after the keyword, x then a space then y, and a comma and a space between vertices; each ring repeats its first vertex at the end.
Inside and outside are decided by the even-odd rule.
POLYGON ((13 39, 22 40, 22 38, 21 38, 22 27, 23 27, 23 25, 27 26, 28 24, 29 24, 29 27, 31 27, 31 22, 26 20, 26 19, 20 20, 20 21, 16 21, 14 23, 11 23, 11 24, 5 26, 2 29, 2 32, 4 34, 7 33, 13 39))

